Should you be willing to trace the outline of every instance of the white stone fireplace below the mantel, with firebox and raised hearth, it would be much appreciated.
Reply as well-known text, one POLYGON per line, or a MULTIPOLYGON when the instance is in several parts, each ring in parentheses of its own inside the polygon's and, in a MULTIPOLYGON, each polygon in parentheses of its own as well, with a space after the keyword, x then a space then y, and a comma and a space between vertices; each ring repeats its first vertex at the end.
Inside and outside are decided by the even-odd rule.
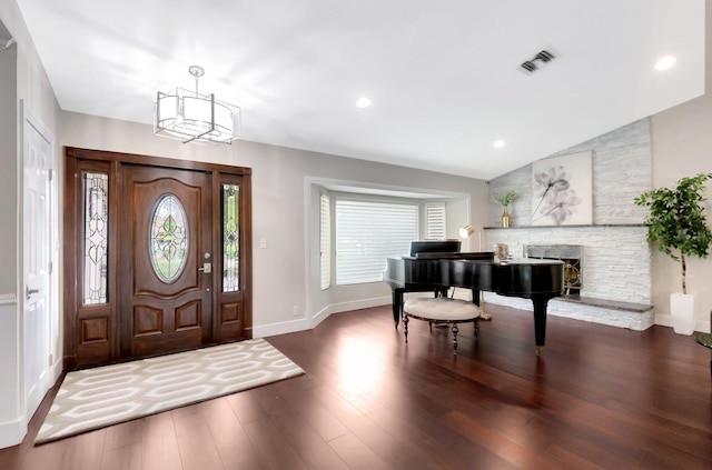
MULTIPOLYGON (((644 330, 654 323, 646 233, 642 224, 486 228, 484 244, 506 243, 514 258, 564 261, 567 286, 548 302, 548 313, 644 330)), ((484 300, 532 309, 526 299, 493 292, 484 292, 484 300)))

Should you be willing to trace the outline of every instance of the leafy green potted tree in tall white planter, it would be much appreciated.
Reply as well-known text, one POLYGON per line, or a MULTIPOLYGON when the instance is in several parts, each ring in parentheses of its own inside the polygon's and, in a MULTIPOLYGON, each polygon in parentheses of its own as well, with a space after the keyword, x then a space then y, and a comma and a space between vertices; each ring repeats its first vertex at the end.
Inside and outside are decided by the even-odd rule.
POLYGON ((688 294, 685 256, 706 258, 712 232, 704 213, 704 183, 712 173, 682 178, 674 189, 660 188, 635 198, 637 206, 650 207, 645 219, 647 241, 682 264, 682 293, 670 294, 670 314, 676 333, 694 331, 694 296, 688 294))

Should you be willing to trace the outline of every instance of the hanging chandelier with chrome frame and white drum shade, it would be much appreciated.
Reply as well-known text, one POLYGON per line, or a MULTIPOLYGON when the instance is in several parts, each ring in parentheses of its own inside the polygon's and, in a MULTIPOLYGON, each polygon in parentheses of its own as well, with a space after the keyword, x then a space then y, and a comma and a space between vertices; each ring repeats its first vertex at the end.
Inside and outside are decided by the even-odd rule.
POLYGON ((240 137, 240 109, 215 99, 215 94, 200 94, 198 80, 205 74, 202 67, 190 66, 188 72, 196 79, 196 91, 176 88, 175 92, 158 92, 154 109, 154 132, 188 142, 231 143, 240 137))

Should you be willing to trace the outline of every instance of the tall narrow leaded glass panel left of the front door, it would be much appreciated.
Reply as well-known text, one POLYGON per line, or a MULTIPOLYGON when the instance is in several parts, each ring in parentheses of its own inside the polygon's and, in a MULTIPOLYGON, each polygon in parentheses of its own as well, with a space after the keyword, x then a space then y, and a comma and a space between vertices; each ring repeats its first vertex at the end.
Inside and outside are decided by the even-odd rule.
POLYGON ((109 176, 83 173, 83 303, 106 303, 108 284, 109 176))

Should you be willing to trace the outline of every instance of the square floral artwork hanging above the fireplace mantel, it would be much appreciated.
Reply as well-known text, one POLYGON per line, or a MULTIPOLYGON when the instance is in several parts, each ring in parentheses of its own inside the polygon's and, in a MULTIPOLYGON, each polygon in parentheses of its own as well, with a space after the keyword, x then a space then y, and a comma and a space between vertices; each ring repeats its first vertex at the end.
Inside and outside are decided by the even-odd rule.
POLYGON ((593 221, 592 152, 532 163, 532 226, 586 226, 593 221))

